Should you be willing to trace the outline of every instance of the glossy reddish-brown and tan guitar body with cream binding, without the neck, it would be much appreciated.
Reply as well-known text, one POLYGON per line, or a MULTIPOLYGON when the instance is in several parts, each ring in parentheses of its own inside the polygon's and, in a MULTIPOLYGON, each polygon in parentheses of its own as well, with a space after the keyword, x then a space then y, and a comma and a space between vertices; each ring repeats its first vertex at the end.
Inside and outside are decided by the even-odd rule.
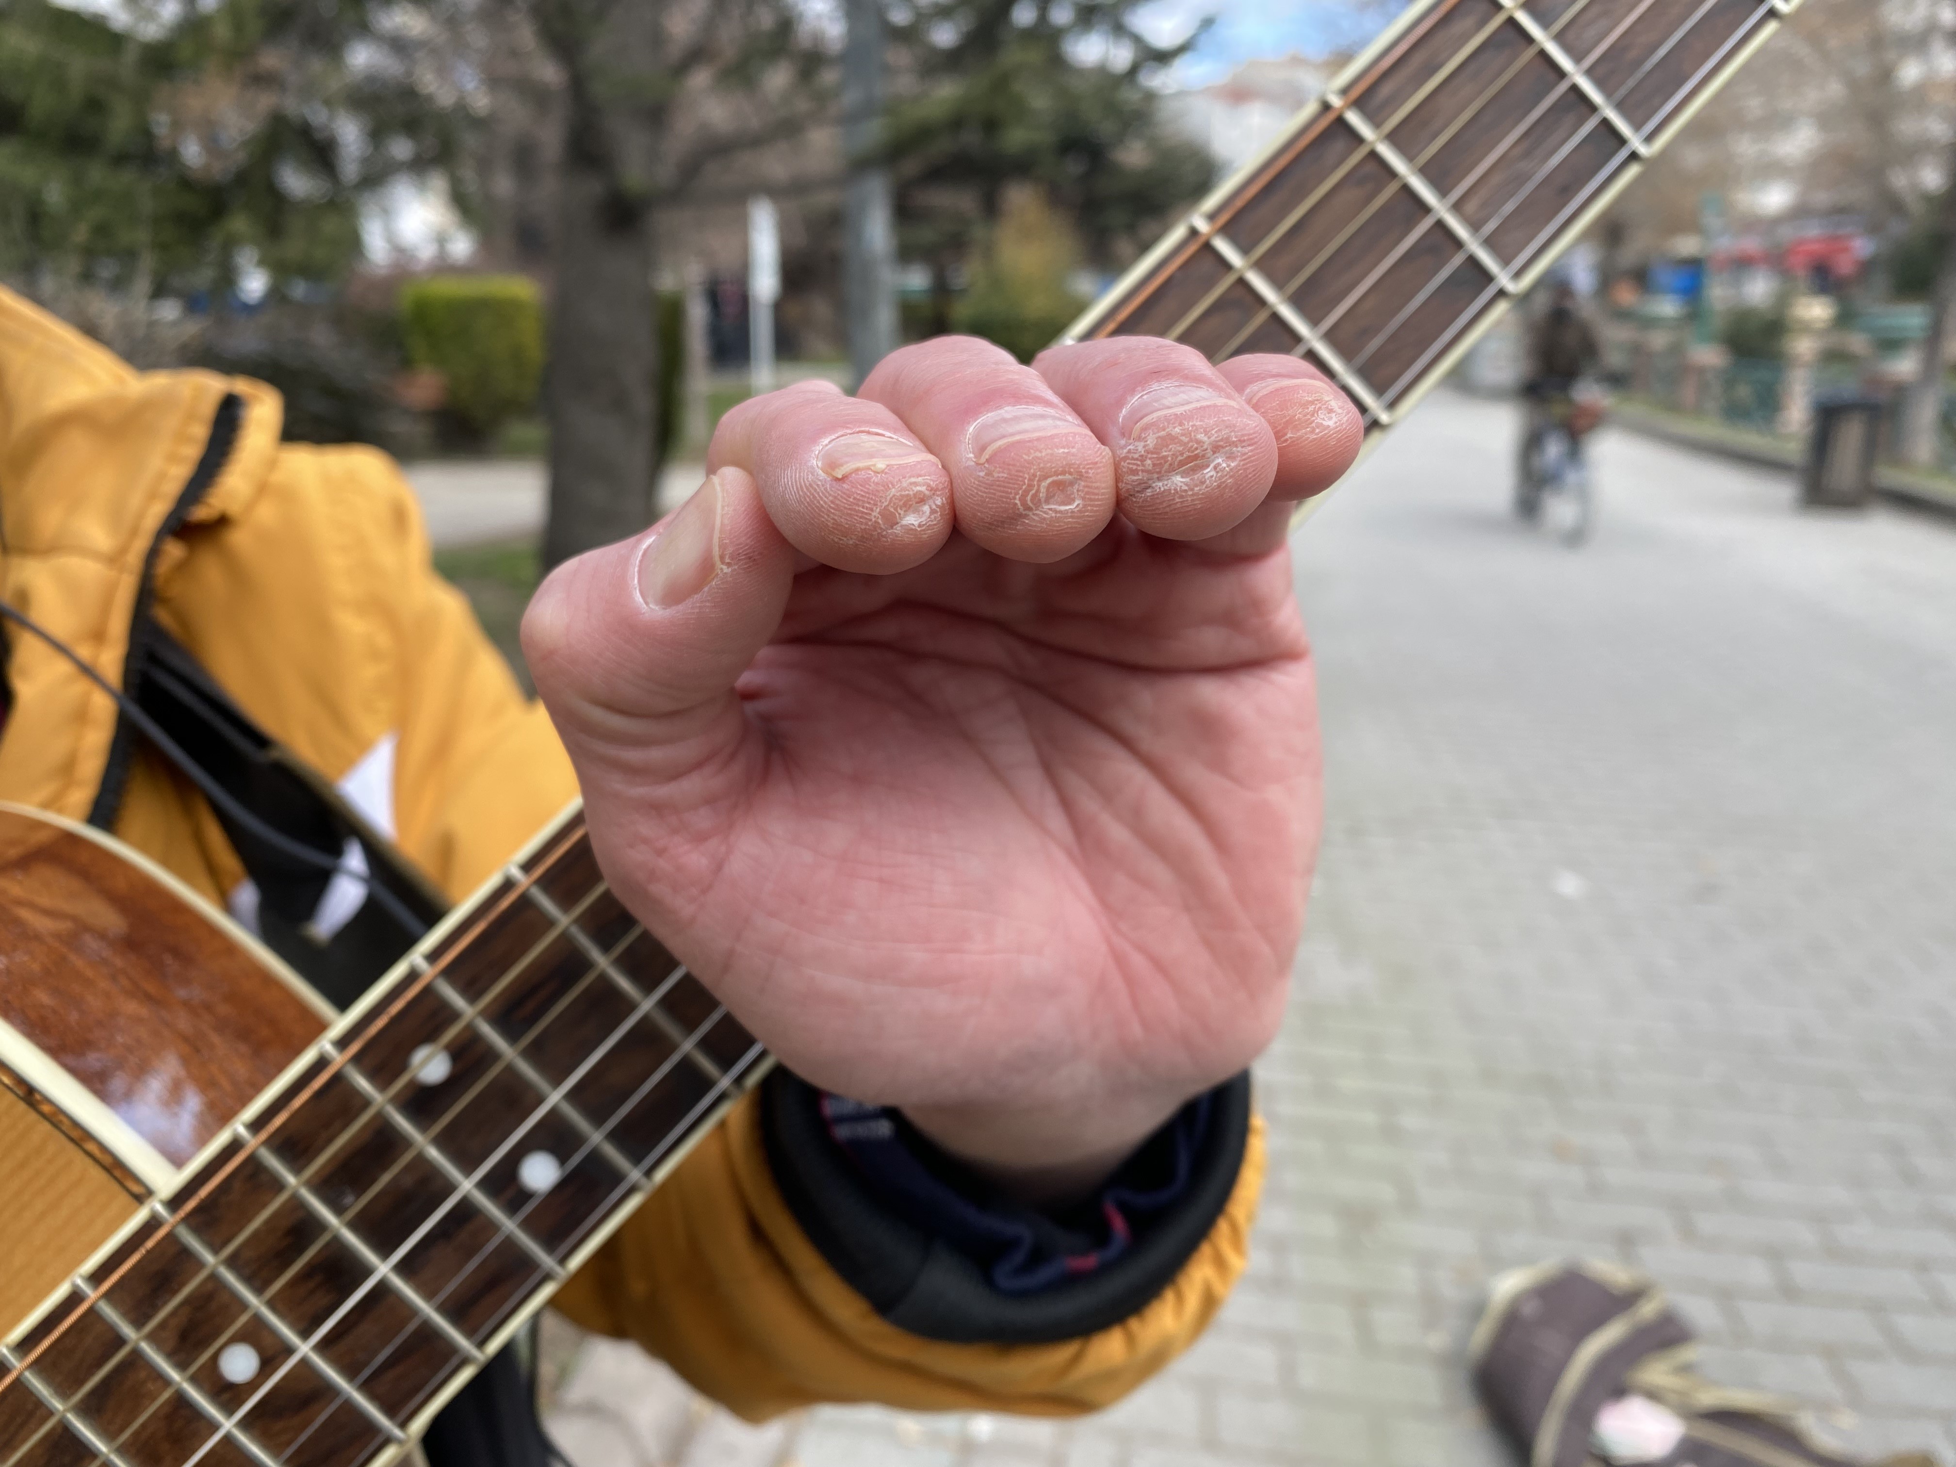
POLYGON ((162 870, 0 806, 0 1340, 331 1021, 162 870))

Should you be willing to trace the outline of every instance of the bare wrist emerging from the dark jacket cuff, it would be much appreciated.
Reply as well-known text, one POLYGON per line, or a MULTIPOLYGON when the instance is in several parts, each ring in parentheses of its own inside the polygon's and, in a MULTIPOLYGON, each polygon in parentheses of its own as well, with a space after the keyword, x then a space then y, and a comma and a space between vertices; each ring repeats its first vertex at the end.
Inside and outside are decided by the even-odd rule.
POLYGON ((1074 1105, 906 1105, 931 1144, 1013 1201, 1064 1207, 1101 1187, 1189 1099, 1183 1093, 1074 1105))

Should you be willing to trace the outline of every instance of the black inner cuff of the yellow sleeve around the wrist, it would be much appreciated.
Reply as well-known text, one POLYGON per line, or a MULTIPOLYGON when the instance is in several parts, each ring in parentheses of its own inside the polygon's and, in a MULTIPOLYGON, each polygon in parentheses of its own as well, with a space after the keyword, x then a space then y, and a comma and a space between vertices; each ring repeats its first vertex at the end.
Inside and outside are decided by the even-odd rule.
MULTIPOLYGON (((759 1099, 769 1170, 816 1252, 884 1320, 947 1344, 1074 1340, 1142 1311, 1174 1283, 1222 1217, 1250 1134, 1250 1076, 1240 1074, 1191 1101, 1207 1115, 1174 1201, 1136 1221, 1123 1246, 1091 1271, 1029 1293, 1000 1287, 998 1269, 988 1271, 943 1232, 921 1226, 915 1207, 878 1185, 837 1140, 827 1113, 833 1097, 777 1070, 759 1099)), ((1187 1115, 1170 1121, 1136 1156, 1146 1158, 1158 1142, 1166 1146, 1178 1127, 1187 1134, 1187 1115)), ((966 1199, 1011 1211, 1009 1203, 988 1203, 986 1185, 921 1136, 910 1133, 906 1144, 923 1152, 919 1162, 966 1199)), ((1113 1185, 1121 1187, 1123 1178, 1113 1185)))

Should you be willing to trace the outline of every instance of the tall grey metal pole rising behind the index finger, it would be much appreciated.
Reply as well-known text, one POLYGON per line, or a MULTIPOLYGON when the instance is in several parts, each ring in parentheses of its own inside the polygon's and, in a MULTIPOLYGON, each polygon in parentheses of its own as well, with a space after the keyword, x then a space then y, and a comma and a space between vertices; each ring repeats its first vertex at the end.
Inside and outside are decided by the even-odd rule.
POLYGON ((876 162, 882 143, 884 61, 882 0, 847 0, 843 43, 843 315, 849 321, 849 370, 857 383, 896 350, 896 221, 890 170, 876 162))

